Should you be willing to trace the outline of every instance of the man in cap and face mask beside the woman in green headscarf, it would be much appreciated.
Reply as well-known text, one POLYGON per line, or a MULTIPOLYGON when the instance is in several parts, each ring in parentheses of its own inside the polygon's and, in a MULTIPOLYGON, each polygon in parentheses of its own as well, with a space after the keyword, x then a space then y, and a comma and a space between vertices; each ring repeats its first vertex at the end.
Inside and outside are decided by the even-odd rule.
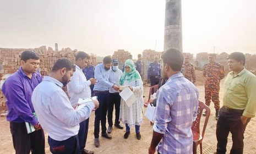
MULTIPOLYGON (((113 59, 112 60, 112 68, 110 69, 110 82, 115 85, 120 85, 119 80, 121 76, 123 75, 123 72, 121 69, 118 68, 118 60, 113 59)), ((116 119, 115 119, 115 127, 119 129, 123 129, 122 124, 119 122, 119 111, 120 111, 120 102, 121 102, 121 96, 119 95, 119 91, 110 88, 109 93, 109 101, 108 101, 108 110, 107 110, 107 121, 108 121, 108 129, 107 133, 110 134, 112 132, 112 126, 113 126, 113 108, 115 105, 116 109, 116 119)))

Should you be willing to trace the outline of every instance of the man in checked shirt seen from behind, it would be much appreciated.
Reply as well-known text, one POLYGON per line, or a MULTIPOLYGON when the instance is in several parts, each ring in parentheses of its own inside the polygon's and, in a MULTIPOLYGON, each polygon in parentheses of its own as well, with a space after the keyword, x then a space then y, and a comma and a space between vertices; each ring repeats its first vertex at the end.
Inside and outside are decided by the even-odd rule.
POLYGON ((181 73, 183 55, 175 48, 161 56, 162 76, 167 80, 157 91, 156 118, 149 153, 192 153, 192 124, 197 118, 197 88, 181 73))

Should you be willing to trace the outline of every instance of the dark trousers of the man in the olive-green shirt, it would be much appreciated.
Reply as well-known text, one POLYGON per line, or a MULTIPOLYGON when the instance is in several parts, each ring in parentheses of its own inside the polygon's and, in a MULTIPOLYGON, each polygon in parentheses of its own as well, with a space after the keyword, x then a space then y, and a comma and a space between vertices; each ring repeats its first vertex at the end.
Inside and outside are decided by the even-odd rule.
POLYGON ((219 112, 219 120, 217 121, 216 136, 217 136, 217 153, 226 153, 227 136, 229 133, 232 134, 232 149, 231 154, 243 153, 243 139, 244 130, 250 121, 248 118, 247 122, 243 125, 241 116, 243 110, 228 109, 222 107, 219 112))

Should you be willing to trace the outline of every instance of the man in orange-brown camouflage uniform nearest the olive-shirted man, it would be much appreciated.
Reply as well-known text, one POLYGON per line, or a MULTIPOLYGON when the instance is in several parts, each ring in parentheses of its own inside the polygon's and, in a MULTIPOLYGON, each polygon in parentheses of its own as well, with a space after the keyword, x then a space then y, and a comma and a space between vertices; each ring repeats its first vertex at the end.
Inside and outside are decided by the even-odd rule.
MULTIPOLYGON (((220 80, 225 78, 223 65, 215 62, 216 54, 209 54, 209 63, 204 65, 203 75, 205 76, 205 104, 210 106, 211 100, 214 102, 215 117, 219 119, 220 109, 220 80)), ((206 116, 206 112, 203 113, 206 116)))

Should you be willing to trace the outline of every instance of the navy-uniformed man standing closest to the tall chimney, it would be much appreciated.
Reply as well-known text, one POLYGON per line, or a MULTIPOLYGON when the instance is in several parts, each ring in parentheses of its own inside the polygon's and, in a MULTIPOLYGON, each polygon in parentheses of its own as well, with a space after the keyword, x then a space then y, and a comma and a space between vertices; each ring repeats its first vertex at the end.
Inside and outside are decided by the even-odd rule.
POLYGON ((148 79, 150 79, 151 86, 157 85, 159 83, 161 76, 161 66, 159 63, 158 56, 154 57, 154 62, 149 64, 148 69, 148 79))

